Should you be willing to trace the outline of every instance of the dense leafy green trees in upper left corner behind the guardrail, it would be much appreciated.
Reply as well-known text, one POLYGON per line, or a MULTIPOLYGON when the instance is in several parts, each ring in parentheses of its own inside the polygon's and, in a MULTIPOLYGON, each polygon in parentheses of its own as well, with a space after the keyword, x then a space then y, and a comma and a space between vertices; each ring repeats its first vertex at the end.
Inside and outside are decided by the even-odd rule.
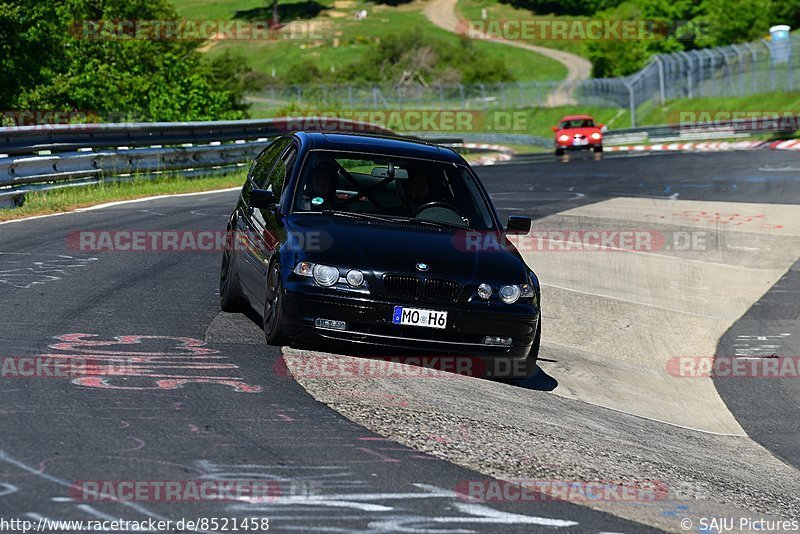
POLYGON ((12 54, 3 54, 10 70, 2 70, 18 78, 3 84, 0 106, 6 109, 91 110, 165 121, 246 114, 241 58, 228 56, 223 65, 206 60, 196 41, 133 38, 87 22, 177 20, 166 0, 7 0, 1 12, 25 30, 15 34, 12 28, 10 40, 3 40, 12 54))

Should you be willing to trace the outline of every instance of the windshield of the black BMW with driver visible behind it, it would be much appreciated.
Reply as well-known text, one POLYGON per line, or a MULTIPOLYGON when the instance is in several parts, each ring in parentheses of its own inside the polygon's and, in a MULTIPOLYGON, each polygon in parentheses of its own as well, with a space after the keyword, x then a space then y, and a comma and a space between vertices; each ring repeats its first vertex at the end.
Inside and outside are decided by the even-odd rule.
POLYGON ((293 211, 494 229, 491 210, 466 167, 345 152, 309 153, 293 211))

